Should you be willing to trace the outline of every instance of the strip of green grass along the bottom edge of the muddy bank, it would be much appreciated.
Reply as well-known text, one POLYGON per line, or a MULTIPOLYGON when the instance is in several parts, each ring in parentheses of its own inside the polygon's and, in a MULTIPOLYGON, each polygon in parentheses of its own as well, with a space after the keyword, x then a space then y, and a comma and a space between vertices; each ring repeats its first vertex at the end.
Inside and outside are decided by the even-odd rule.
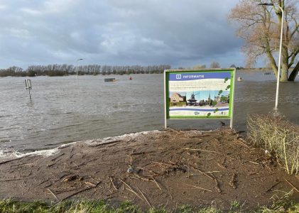
MULTIPOLYGON (((156 209, 148 209, 145 212, 148 213, 168 213, 168 212, 180 212, 180 213, 241 213, 241 212, 256 212, 256 213, 298 213, 299 203, 294 203, 290 200, 291 192, 286 193, 283 197, 273 197, 273 204, 271 207, 256 207, 256 209, 249 210, 244 209, 244 205, 240 204, 237 200, 231 202, 230 209, 221 209, 211 205, 210 207, 204 207, 201 209, 195 209, 190 205, 182 205, 176 209, 165 209, 160 207, 156 209)), ((134 205, 132 202, 126 201, 119 204, 118 207, 111 206, 104 201, 65 201, 58 204, 47 204, 45 202, 18 202, 14 200, 1 200, 0 212, 7 213, 142 213, 140 207, 134 205)))

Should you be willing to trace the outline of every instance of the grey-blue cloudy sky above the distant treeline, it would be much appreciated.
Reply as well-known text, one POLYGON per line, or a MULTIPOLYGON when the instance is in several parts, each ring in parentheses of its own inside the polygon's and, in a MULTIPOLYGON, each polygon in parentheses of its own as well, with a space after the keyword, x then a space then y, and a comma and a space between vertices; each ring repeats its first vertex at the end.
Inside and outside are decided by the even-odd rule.
POLYGON ((0 0, 0 68, 244 65, 227 23, 239 0, 0 0))

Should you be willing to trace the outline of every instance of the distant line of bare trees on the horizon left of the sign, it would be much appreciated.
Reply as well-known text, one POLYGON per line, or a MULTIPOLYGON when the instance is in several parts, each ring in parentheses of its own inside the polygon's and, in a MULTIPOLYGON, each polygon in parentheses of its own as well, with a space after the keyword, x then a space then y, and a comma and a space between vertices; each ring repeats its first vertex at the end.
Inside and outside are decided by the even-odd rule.
POLYGON ((0 70, 0 77, 21 76, 33 77, 40 75, 64 76, 64 75, 124 75, 124 74, 152 74, 163 73, 169 70, 170 65, 152 65, 152 66, 110 66, 110 65, 32 65, 23 70, 21 67, 9 67, 0 70))

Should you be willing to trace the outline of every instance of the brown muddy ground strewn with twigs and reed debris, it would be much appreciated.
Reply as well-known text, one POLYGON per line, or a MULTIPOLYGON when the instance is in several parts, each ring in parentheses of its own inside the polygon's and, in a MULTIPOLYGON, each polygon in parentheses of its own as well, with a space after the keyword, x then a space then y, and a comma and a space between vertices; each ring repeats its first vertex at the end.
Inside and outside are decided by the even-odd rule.
POLYGON ((243 209, 268 205, 299 187, 281 165, 229 129, 152 131, 81 141, 48 157, 0 160, 0 197, 22 201, 87 198, 144 209, 180 204, 243 209))

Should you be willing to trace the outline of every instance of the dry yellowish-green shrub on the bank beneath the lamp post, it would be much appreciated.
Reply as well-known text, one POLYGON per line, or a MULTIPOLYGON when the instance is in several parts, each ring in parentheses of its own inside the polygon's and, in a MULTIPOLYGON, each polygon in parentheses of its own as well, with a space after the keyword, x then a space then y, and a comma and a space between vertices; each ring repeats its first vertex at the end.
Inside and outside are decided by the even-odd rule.
POLYGON ((299 126, 283 116, 251 115, 247 138, 283 163, 288 174, 299 174, 299 126))

